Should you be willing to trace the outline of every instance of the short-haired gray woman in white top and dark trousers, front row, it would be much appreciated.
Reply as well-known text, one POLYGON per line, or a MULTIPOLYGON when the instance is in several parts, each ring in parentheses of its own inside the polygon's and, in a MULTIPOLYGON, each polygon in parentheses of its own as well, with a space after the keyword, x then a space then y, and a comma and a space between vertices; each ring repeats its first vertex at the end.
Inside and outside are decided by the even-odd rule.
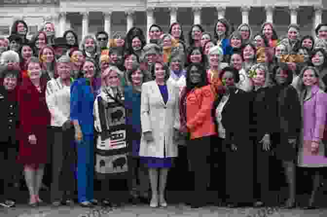
POLYGON ((74 132, 70 120, 71 61, 66 55, 57 61, 58 78, 47 83, 46 102, 51 113, 52 173, 51 200, 54 206, 73 202, 75 163, 74 132), (65 197, 65 200, 64 200, 65 197))

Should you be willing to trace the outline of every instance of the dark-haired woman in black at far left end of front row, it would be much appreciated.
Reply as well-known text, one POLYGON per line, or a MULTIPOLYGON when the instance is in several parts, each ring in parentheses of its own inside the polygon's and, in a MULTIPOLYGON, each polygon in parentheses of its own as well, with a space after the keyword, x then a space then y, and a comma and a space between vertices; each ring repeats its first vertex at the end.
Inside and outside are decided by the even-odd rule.
MULTIPOLYGON (((0 79, 0 205, 11 207, 15 205, 12 198, 16 188, 10 187, 15 182, 12 177, 18 177, 16 158, 18 155, 17 130, 19 127, 19 112, 17 101, 17 84, 19 71, 6 70, 0 79)), ((18 193, 18 191, 16 192, 18 193)))

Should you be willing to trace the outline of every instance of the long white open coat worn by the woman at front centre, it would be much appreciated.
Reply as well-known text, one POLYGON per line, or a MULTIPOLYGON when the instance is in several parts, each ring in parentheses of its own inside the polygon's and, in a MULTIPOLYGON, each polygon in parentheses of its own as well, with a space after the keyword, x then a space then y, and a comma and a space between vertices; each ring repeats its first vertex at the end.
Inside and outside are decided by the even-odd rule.
POLYGON ((149 81, 142 85, 142 132, 152 131, 154 140, 148 143, 142 134, 140 156, 164 158, 164 147, 166 157, 178 156, 178 147, 173 140, 173 135, 174 128, 180 128, 179 89, 169 80, 166 85, 167 104, 164 104, 156 81, 149 81))

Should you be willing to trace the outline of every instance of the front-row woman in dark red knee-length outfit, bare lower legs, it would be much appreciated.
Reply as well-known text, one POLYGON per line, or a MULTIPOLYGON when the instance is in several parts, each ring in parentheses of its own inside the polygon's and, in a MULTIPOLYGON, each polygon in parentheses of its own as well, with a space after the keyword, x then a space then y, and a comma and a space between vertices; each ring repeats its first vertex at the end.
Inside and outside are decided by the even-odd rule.
POLYGON ((24 174, 30 192, 29 205, 35 207, 42 200, 38 196, 47 162, 47 127, 50 112, 45 101, 46 84, 41 82, 41 66, 36 57, 27 62, 28 77, 18 91, 20 138, 18 161, 24 165, 24 174))

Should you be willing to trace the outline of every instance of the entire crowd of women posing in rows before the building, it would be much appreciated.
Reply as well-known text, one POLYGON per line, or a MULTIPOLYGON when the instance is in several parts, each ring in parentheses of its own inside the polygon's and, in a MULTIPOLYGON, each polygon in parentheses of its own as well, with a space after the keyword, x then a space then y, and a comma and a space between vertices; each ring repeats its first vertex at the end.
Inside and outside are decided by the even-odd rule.
MULTIPOLYGON (((24 36, 21 23, 14 26, 24 36)), ((73 203, 75 180, 79 204, 97 204, 94 174, 102 177, 101 202, 116 206, 114 180, 128 174, 133 199, 148 197, 151 207, 165 207, 168 171, 179 145, 186 144, 194 179, 187 204, 193 208, 209 202, 207 187, 217 175, 218 205, 272 205, 269 181, 276 174, 269 167, 276 159, 289 185, 283 207, 296 204, 296 167, 309 167, 313 185, 307 208, 315 208, 321 169, 327 166, 326 33, 321 24, 317 41, 300 39, 299 28, 290 25, 288 36, 277 41, 273 25, 265 23, 251 38, 250 26, 232 33, 222 18, 214 37, 192 26, 187 48, 182 26, 173 23, 169 34, 152 25, 148 44, 142 30, 133 28, 112 40, 105 32, 96 39, 86 36, 78 49, 69 32, 65 40, 71 48, 60 53, 41 43, 42 35, 50 34, 40 32, 38 58, 26 44, 0 56, 0 103, 7 108, 0 116, 6 132, 0 137, 1 165, 13 163, 19 140, 18 162, 33 207, 42 202, 47 149, 55 206, 73 203)), ((11 175, 4 186, 10 186, 11 175)), ((8 192, 1 204, 12 206, 8 192)))

